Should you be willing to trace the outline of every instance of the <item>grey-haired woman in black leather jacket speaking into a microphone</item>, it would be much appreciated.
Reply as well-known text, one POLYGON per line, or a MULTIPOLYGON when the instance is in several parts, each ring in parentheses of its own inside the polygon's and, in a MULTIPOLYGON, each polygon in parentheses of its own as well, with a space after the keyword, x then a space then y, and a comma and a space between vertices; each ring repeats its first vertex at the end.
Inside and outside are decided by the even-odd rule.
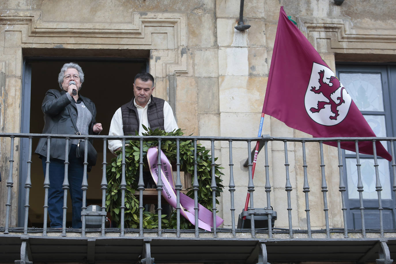
MULTIPOLYGON (((93 135, 102 131, 102 124, 95 122, 95 104, 79 93, 83 82, 84 72, 82 72, 78 64, 66 63, 63 65, 58 76, 58 83, 61 90, 48 90, 41 106, 44 112, 44 134, 75 135, 77 129, 74 124, 76 124, 78 131, 82 135, 93 135)), ((81 184, 84 173, 84 161, 76 156, 77 144, 78 139, 69 140, 68 176, 72 200, 73 228, 81 228, 81 184)), ((51 220, 50 226, 53 228, 62 227, 62 184, 65 175, 65 146, 65 139, 52 138, 50 140, 48 213, 51 220)), ((39 154, 42 159, 45 175, 47 160, 46 138, 40 139, 35 153, 39 154)))

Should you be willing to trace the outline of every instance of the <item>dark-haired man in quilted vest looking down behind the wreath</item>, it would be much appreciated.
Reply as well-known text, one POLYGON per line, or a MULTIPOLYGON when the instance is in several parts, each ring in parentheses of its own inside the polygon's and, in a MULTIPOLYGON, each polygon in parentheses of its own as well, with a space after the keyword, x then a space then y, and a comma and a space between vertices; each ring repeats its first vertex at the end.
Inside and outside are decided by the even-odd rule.
MULTIPOLYGON (((109 136, 135 135, 135 131, 143 135, 146 132, 143 125, 152 130, 160 127, 166 132, 179 128, 169 103, 152 96, 154 88, 154 77, 148 72, 135 76, 132 100, 114 113, 109 136)), ((121 148, 121 140, 109 140, 109 150, 112 153, 121 148)))

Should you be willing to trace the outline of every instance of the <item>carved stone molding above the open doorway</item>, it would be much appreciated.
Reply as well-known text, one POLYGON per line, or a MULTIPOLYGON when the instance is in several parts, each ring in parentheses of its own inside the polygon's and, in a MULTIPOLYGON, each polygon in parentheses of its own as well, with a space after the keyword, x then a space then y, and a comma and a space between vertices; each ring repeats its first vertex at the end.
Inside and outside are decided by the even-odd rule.
MULTIPOLYGON (((133 13, 133 23, 108 24, 46 22, 41 17, 41 11, 3 11, 0 32, 21 32, 22 48, 149 49, 153 54, 150 67, 155 64, 156 77, 187 72, 185 14, 133 13)), ((16 42, 11 46, 18 45, 16 42)), ((7 47, 1 44, 0 40, 0 51, 7 47)))

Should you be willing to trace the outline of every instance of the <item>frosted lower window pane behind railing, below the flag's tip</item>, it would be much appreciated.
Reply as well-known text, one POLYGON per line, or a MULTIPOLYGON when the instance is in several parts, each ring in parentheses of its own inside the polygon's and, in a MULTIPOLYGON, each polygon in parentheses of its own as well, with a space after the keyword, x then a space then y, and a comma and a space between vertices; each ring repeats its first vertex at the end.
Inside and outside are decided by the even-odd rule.
MULTIPOLYGON (((356 167, 356 159, 346 158, 346 175, 348 182, 348 197, 349 199, 359 199, 358 190, 358 170, 356 167)), ((390 178, 388 161, 379 159, 378 171, 379 179, 382 186, 381 198, 392 199, 390 190, 390 178)), ((364 199, 378 199, 377 191, 375 190, 375 168, 373 159, 360 159, 360 174, 363 183, 363 198, 364 199)))

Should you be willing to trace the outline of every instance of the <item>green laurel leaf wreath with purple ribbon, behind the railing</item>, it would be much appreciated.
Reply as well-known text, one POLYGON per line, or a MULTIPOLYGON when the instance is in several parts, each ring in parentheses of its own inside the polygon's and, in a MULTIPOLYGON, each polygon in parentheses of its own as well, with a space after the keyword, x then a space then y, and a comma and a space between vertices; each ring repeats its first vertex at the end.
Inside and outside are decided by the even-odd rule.
MULTIPOLYGON (((143 133, 143 136, 182 136, 183 131, 177 129, 173 132, 165 132, 161 129, 151 130, 150 128, 144 127, 147 133, 143 133)), ((138 135, 138 133, 136 133, 138 135)), ((139 194, 137 190, 137 182, 139 180, 139 160, 140 160, 140 141, 130 140, 126 142, 129 145, 125 146, 125 180, 126 180, 126 192, 125 192, 125 214, 124 214, 124 226, 126 228, 138 228, 139 227, 139 198, 134 194, 139 194)), ((158 146, 157 140, 143 141, 143 163, 144 167, 147 165, 147 150, 152 146, 158 146)), ((162 140, 161 149, 173 163, 176 161, 177 148, 176 141, 162 140)), ((106 208, 110 212, 112 221, 120 227, 120 214, 121 214, 121 175, 122 175, 122 151, 116 152, 117 157, 112 158, 111 162, 107 165, 107 182, 108 182, 108 193, 106 196, 106 208)), ((201 144, 197 144, 196 150, 196 169, 197 169, 197 180, 199 184, 198 189, 198 203, 211 210, 213 206, 212 190, 211 190, 211 155, 209 150, 206 150, 201 144)), ((190 140, 179 142, 179 159, 180 159, 180 171, 188 172, 194 175, 194 143, 190 140)), ((217 160, 217 158, 215 158, 217 160)), ((217 189, 215 191, 216 203, 219 204, 217 197, 223 192, 224 186, 221 184, 221 175, 224 175, 220 170, 224 169, 218 164, 214 164, 215 180, 217 189)), ((194 179, 192 179, 192 182, 194 179)), ((188 188, 187 195, 194 199, 194 191, 192 187, 188 188)), ((172 215, 167 217, 166 215, 161 216, 162 228, 176 228, 176 211, 174 210, 172 215)), ((143 228, 152 229, 158 227, 158 215, 155 212, 143 212, 143 228)), ((184 217, 180 218, 180 228, 189 229, 192 228, 192 224, 188 222, 184 217)))

